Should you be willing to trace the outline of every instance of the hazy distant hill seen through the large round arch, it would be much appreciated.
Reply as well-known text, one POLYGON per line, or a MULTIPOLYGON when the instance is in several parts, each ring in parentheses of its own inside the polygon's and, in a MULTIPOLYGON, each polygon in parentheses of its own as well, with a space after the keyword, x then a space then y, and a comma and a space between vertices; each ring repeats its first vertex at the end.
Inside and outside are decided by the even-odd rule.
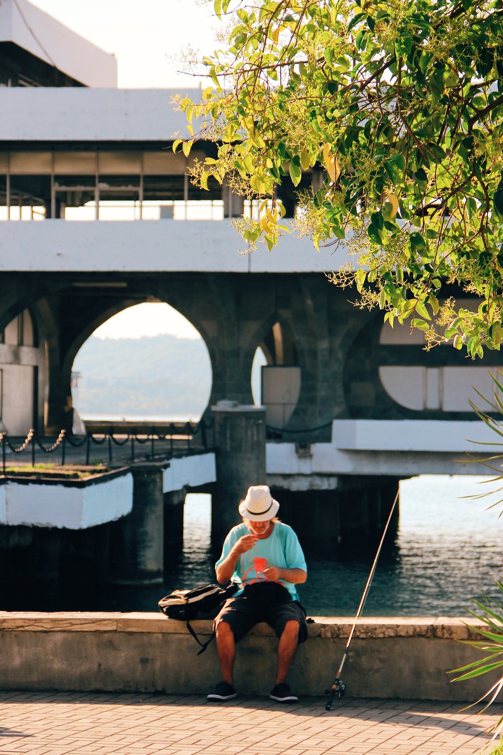
POLYGON ((203 341, 173 335, 91 336, 78 352, 73 371, 81 373, 74 394, 81 415, 197 418, 210 397, 211 365, 203 341))

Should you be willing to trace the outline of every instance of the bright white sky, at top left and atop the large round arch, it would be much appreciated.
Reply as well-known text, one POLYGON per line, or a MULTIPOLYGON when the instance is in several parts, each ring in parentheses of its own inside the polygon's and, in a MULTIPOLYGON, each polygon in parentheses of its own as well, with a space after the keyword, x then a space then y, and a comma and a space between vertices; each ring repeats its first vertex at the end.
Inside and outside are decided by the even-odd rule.
MULTIPOLYGON (((194 88, 203 79, 180 72, 187 48, 210 54, 220 26, 213 4, 201 0, 30 0, 41 11, 90 40, 118 61, 124 89, 194 88)), ((115 315, 94 335, 139 338, 170 333, 198 338, 198 331, 167 304, 138 304, 115 315)))

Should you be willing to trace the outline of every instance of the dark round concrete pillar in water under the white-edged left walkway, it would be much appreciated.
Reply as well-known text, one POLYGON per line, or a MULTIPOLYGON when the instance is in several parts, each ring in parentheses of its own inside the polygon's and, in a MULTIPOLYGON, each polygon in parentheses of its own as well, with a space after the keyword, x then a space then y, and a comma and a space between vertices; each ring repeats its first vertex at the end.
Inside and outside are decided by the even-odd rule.
POLYGON ((133 510, 114 522, 110 542, 112 584, 161 584, 164 571, 163 469, 135 464, 133 510))

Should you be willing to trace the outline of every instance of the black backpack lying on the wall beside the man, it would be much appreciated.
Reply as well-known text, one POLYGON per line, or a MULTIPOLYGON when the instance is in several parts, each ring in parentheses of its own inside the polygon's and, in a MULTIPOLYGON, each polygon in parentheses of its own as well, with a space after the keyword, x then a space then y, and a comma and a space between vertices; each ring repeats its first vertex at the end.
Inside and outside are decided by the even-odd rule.
POLYGON ((207 649, 215 633, 213 632, 210 639, 203 644, 192 629, 190 622, 197 618, 215 618, 225 600, 231 598, 237 590, 238 586, 232 583, 228 587, 221 587, 219 584, 204 584, 201 587, 195 587, 194 590, 173 590, 173 593, 159 600, 158 606, 167 618, 186 622, 186 627, 196 643, 201 645, 201 650, 198 652, 198 655, 201 655, 207 649))

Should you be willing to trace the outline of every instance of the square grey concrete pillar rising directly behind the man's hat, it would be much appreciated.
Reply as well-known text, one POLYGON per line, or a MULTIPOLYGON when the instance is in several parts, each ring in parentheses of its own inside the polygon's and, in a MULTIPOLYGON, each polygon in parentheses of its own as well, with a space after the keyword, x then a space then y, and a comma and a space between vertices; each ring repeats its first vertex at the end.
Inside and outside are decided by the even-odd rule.
POLYGON ((216 448, 211 537, 218 546, 241 521, 238 504, 250 485, 265 485, 265 408, 219 401, 211 411, 216 448))

